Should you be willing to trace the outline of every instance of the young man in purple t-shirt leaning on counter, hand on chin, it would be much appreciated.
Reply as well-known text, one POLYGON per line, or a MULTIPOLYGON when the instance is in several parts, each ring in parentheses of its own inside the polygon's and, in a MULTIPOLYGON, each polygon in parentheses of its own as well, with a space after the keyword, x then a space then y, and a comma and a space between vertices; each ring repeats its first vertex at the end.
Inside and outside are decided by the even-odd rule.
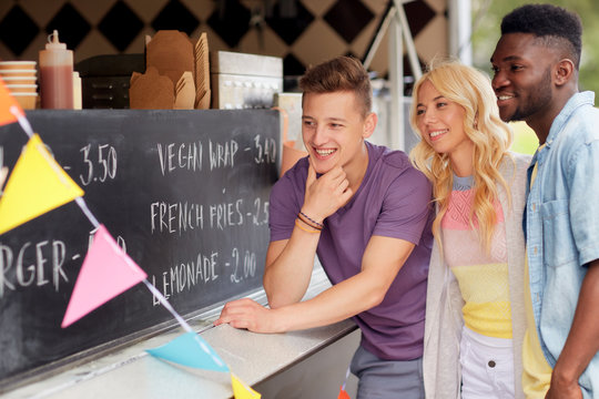
POLYGON ((270 308, 235 300, 216 324, 282 332, 353 317, 362 329, 352 360, 358 398, 424 398, 430 184, 403 152, 365 141, 377 116, 359 61, 324 62, 300 85, 308 157, 271 193, 270 308), (333 286, 302 301, 316 254, 333 286))

